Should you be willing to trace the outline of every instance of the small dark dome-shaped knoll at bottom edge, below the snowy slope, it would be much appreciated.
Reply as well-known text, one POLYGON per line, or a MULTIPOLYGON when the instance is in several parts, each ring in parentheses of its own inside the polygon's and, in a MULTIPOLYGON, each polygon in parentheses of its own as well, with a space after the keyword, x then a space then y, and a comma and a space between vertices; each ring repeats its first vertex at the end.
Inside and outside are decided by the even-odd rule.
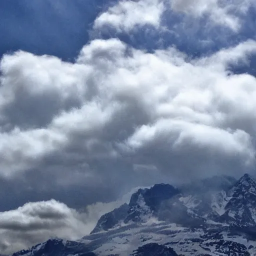
POLYGON ((164 245, 148 243, 138 247, 130 256, 178 256, 178 254, 164 245))

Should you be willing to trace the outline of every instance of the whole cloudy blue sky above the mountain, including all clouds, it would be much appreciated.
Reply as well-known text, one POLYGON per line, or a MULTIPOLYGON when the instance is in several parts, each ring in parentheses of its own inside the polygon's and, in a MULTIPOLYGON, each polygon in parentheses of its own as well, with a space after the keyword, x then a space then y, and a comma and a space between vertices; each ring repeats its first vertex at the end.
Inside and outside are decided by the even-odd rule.
POLYGON ((255 175, 255 5, 0 1, 0 253, 138 186, 255 175))

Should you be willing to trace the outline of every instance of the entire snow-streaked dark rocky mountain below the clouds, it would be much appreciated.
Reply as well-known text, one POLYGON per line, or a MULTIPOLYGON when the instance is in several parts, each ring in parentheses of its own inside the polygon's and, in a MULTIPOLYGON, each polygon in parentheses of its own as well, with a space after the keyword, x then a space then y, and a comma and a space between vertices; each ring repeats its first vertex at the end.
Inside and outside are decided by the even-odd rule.
POLYGON ((79 241, 51 239, 12 256, 256 255, 256 181, 212 177, 138 189, 79 241))

